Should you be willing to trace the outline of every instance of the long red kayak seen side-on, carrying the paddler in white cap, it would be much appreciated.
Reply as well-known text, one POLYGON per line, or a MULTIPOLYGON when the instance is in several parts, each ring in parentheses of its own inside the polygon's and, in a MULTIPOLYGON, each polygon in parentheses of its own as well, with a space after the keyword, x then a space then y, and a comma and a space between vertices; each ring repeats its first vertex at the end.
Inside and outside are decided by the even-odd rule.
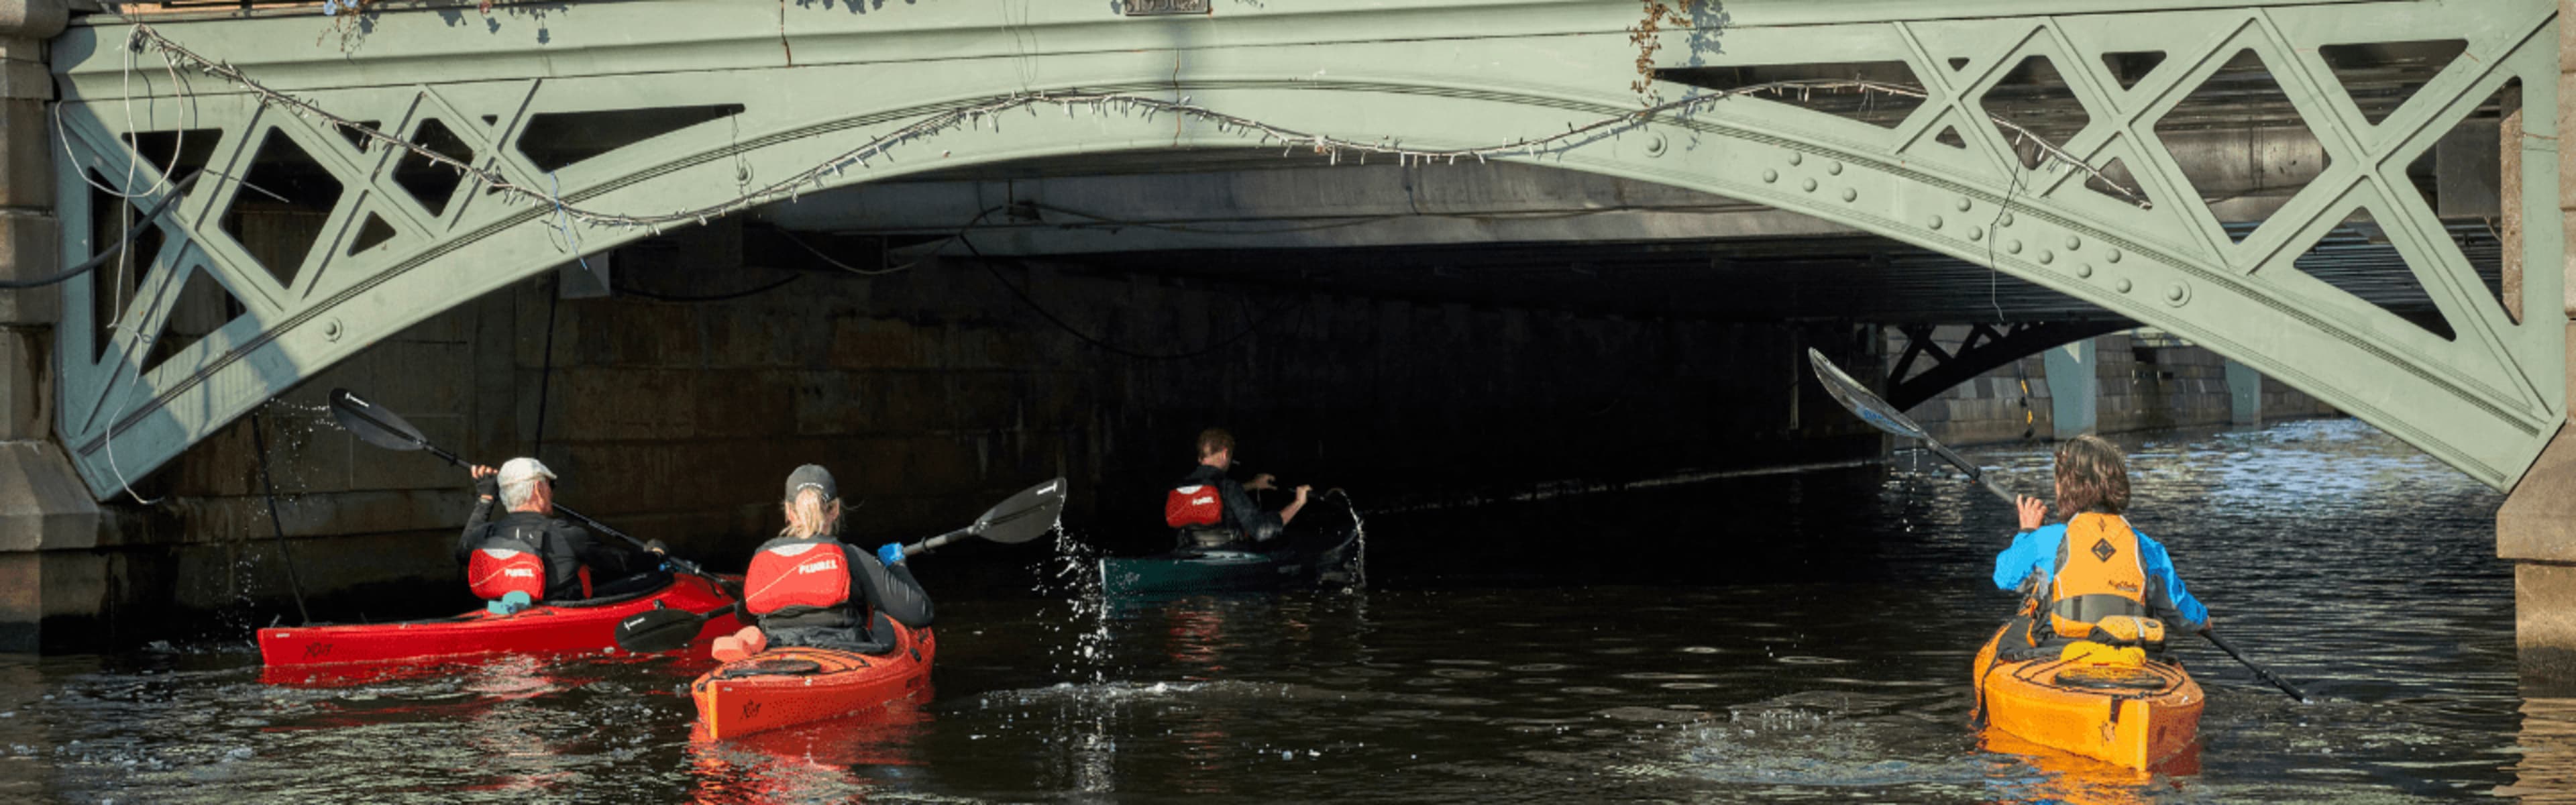
MULTIPOLYGON (((739 578, 726 575, 739 583, 739 578)), ((616 648, 616 627, 629 614, 647 609, 714 611, 734 604, 716 581, 706 575, 672 575, 670 583, 649 591, 538 604, 515 614, 466 611, 443 619, 389 622, 389 624, 317 624, 260 630, 260 663, 327 666, 327 663, 389 663, 456 658, 479 653, 580 653, 616 648)), ((742 630, 734 614, 711 617, 688 653, 706 658, 721 635, 742 630)))

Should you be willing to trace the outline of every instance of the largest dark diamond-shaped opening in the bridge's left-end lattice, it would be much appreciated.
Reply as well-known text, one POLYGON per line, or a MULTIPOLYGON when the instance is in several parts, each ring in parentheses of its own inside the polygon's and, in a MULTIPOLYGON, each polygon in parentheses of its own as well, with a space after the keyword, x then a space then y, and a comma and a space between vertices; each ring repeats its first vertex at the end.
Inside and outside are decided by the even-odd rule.
POLYGON ((296 286, 304 255, 322 237, 322 219, 340 204, 340 181, 281 129, 268 129, 224 206, 222 230, 268 268, 278 289, 296 286))

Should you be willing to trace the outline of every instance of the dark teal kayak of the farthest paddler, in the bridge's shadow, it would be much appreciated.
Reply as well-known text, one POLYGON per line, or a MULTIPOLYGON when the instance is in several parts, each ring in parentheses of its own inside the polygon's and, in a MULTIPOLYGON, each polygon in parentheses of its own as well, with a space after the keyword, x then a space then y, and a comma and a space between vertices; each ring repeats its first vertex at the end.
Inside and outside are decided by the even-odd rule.
MULTIPOLYGON (((1141 593, 1226 593, 1311 586, 1350 573, 1358 560, 1360 519, 1347 498, 1327 493, 1340 506, 1314 506, 1319 521, 1301 516, 1273 550, 1175 550, 1151 557, 1100 560, 1100 588, 1110 596, 1141 593)), ((1321 501, 1319 501, 1321 503, 1321 501)))

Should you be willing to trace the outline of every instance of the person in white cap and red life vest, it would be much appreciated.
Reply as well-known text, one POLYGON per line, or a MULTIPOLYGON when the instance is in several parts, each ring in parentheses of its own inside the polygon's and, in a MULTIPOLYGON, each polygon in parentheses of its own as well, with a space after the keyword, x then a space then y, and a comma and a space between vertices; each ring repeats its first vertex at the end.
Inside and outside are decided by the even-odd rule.
POLYGON ((587 529, 554 519, 554 470, 538 459, 510 459, 500 470, 477 464, 471 475, 477 501, 456 537, 456 562, 466 565, 466 586, 492 601, 492 611, 590 599, 592 581, 621 588, 667 581, 659 552, 600 542, 587 529), (495 498, 500 519, 492 519, 495 498))

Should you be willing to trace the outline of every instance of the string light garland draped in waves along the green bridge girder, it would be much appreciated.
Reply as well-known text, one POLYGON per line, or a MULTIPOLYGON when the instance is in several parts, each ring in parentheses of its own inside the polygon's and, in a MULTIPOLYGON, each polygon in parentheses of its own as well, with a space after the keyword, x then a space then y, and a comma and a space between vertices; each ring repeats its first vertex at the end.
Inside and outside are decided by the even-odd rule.
MULTIPOLYGON (((1654 103, 1654 106, 1646 106, 1646 108, 1638 108, 1638 111, 1605 116, 1605 119, 1597 119, 1597 121, 1589 121, 1589 124, 1566 124, 1566 132, 1556 132, 1556 134, 1548 134, 1548 137, 1512 139, 1512 142, 1479 144, 1479 147, 1425 150, 1425 147, 1404 147, 1396 139, 1365 142, 1365 139, 1347 139, 1347 137, 1332 137, 1332 134, 1314 134, 1314 132, 1288 129, 1288 126, 1278 126, 1278 124, 1267 124, 1267 121, 1257 121, 1257 119, 1247 119, 1247 116, 1236 116, 1236 114, 1224 114, 1224 111, 1213 111, 1213 108, 1190 103, 1190 95, 1180 95, 1180 101, 1164 101, 1164 98, 1146 98, 1146 95, 1128 95, 1128 93, 1038 90, 1038 93, 1012 93, 1012 95, 992 98, 992 101, 984 101, 984 103, 961 106, 961 108, 951 108, 951 111, 922 116, 922 119, 917 119, 912 124, 904 124, 904 126, 899 126, 894 132, 878 134, 878 137, 873 137, 873 139, 868 139, 868 142, 863 142, 863 144, 858 144, 853 150, 845 150, 845 152, 840 152, 840 155, 835 155, 829 160, 822 160, 814 168, 799 170, 799 173, 793 173, 788 178, 773 181, 773 183, 768 183, 762 188, 747 191, 747 194, 726 199, 726 201, 716 201, 716 204, 696 206, 696 209, 665 212, 665 214, 621 214, 621 212, 598 212, 598 209, 574 206, 564 196, 554 194, 551 188, 533 188, 533 186, 515 183, 507 175, 502 175, 500 170, 469 165, 464 160, 456 160, 456 157, 448 157, 443 152, 428 150, 428 147, 415 144, 410 139, 402 139, 402 137, 386 134, 381 129, 358 124, 353 119, 330 114, 322 106, 314 106, 312 101, 304 101, 304 98, 296 98, 296 95, 289 95, 289 93, 281 93, 281 90, 270 90, 268 85, 260 85, 258 80, 250 80, 250 75, 245 75, 240 67, 232 67, 232 65, 219 62, 219 59, 209 59, 209 57, 204 57, 204 54, 198 54, 198 52, 193 52, 193 49, 188 49, 188 46, 183 46, 178 41, 170 41, 167 36, 162 36, 160 31, 155 31, 152 26, 134 26, 134 36, 129 39, 129 46, 157 49, 157 52, 162 52, 170 59, 185 62, 191 70, 198 70, 198 72, 222 77, 227 83, 234 83, 234 85, 250 90, 252 95, 258 95, 263 106, 278 106, 278 108, 286 108, 286 111, 291 111, 291 114, 296 114, 301 119, 312 119, 312 121, 335 126, 335 129, 358 134, 358 137, 371 139, 371 142, 384 142, 386 147, 399 147, 399 150, 412 152, 412 155, 417 155, 417 157, 422 157, 422 160, 428 160, 433 165, 443 165, 448 170, 456 170, 459 175, 471 175, 474 181, 489 186, 492 191, 505 194, 505 199, 533 201, 533 204, 541 204, 541 206, 551 206, 559 217, 572 219, 572 222, 582 222, 582 224, 598 224, 598 227, 647 227, 647 230, 654 230, 654 232, 659 232, 662 227, 670 227, 670 224, 706 224, 708 219, 716 219, 716 217, 724 217, 724 214, 732 214, 732 212, 742 212, 742 209, 752 209, 752 206, 760 206, 760 204, 781 201, 781 199, 796 201, 806 191, 822 191, 822 188, 827 188, 835 178, 840 178, 850 168, 860 168, 860 170, 873 168, 871 160, 886 160, 886 163, 891 163, 894 160, 894 150, 902 147, 902 144, 912 144, 912 142, 920 142, 920 139, 927 139, 927 137, 935 137, 935 134, 945 134, 945 132, 958 132, 958 129, 981 129, 987 124, 994 126, 994 132, 999 132, 1002 129, 1002 114, 1007 114, 1007 111, 1028 111, 1028 114, 1036 116, 1041 106, 1043 108, 1061 108, 1066 119, 1072 119, 1077 111, 1084 111, 1084 114, 1144 116, 1149 121, 1154 116, 1164 116, 1164 114, 1177 116, 1177 119, 1195 119, 1195 121, 1203 121, 1203 124, 1213 124, 1224 134, 1236 134, 1236 137, 1244 137, 1244 139, 1255 139, 1260 144, 1280 144, 1283 147, 1280 150, 1283 157, 1293 157, 1298 150, 1306 150, 1311 155, 1327 157, 1332 165, 1340 165, 1345 157, 1355 157, 1358 163, 1368 163, 1370 155, 1396 157, 1399 165, 1432 165, 1432 163, 1455 165, 1458 160, 1484 163, 1489 157, 1538 157, 1543 152, 1561 152, 1561 150, 1571 150, 1571 147, 1595 142, 1600 137, 1615 137, 1620 132, 1643 129, 1656 116, 1667 116, 1667 114, 1669 116, 1690 116, 1690 114, 1700 111, 1703 106, 1710 106, 1710 103, 1718 103, 1718 101, 1726 101, 1726 98, 1739 98, 1739 95, 1762 95, 1762 93, 1767 93, 1767 95, 1777 95, 1777 98, 1798 95, 1798 101, 1806 101, 1814 93, 1883 93, 1883 95, 1901 95, 1901 98, 1929 101, 1927 90, 1914 88, 1914 85, 1899 85, 1899 83, 1878 83, 1878 80, 1775 80, 1775 83, 1759 83, 1759 85, 1744 85, 1744 88, 1728 88, 1728 90, 1710 90, 1710 93, 1690 95, 1690 98, 1682 98, 1682 101, 1654 103)), ((2069 155, 2066 150, 2061 150, 2058 144, 2048 142, 2045 137, 2038 137, 2030 129, 2025 129, 2025 126, 2020 126, 2014 121, 2007 121, 2004 116, 1996 116, 1996 114, 1986 114, 1986 116, 1996 124, 1999 132, 2009 132, 2012 134, 2014 147, 2020 147, 2025 142, 2035 144, 2038 152, 2040 152, 2040 165, 2038 168, 2069 165, 2069 168, 2074 168, 2074 170, 2079 170, 2084 175, 2097 178, 2102 186, 2107 186, 2110 191, 2115 191, 2128 204, 2136 204, 2141 209, 2151 209, 2154 206, 2141 191, 2136 191, 2136 188, 2130 188, 2130 186, 2125 186, 2125 183, 2105 175, 2102 170, 2097 170, 2097 168, 2087 165, 2084 160, 2069 155)))

